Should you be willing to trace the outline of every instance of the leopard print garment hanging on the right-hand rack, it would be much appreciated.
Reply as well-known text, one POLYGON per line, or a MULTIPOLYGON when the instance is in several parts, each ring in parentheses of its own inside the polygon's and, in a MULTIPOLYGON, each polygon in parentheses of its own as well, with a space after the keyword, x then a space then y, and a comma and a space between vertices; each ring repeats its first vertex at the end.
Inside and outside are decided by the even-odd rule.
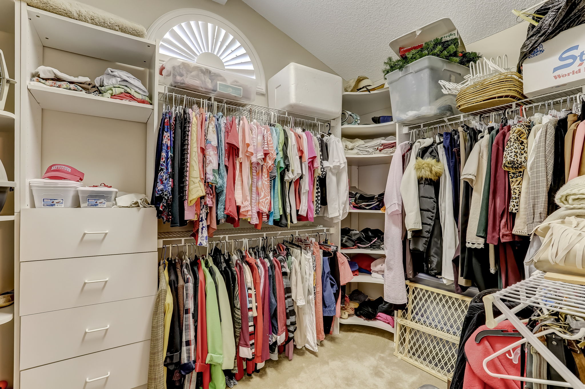
POLYGON ((510 180, 510 212, 517 213, 520 204, 520 191, 522 189, 522 176, 528 159, 528 133, 530 122, 515 125, 510 130, 510 137, 504 149, 502 168, 509 171, 510 180))

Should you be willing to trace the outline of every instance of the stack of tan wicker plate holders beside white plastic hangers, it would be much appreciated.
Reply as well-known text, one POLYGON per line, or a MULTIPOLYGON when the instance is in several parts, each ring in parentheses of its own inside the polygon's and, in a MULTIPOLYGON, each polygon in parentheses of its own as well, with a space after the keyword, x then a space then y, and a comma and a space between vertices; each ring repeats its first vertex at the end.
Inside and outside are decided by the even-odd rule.
POLYGON ((470 85, 457 94, 457 109, 472 112, 508 102, 523 100, 522 75, 508 71, 470 85))

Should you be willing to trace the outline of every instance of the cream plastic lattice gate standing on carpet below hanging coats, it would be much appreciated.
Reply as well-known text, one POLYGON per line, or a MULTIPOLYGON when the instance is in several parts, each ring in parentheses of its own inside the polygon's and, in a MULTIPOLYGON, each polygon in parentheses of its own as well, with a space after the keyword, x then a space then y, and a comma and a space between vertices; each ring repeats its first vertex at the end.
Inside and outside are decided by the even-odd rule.
POLYGON ((407 309, 396 315, 394 355, 447 381, 471 298, 409 281, 407 291, 407 309))

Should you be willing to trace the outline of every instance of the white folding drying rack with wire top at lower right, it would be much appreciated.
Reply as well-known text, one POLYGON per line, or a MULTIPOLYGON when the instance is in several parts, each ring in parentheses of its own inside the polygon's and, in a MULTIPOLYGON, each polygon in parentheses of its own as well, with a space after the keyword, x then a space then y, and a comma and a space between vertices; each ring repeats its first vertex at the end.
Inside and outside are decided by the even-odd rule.
POLYGON ((486 307, 486 325, 495 328, 498 323, 508 319, 522 336, 541 354, 565 380, 565 386, 585 389, 581 383, 564 364, 544 345, 526 326, 516 314, 526 307, 536 307, 543 312, 563 312, 585 319, 585 285, 569 284, 561 281, 553 281, 545 278, 545 273, 536 271, 530 278, 517 284, 488 294, 483 298, 486 307), (518 302, 514 308, 508 308, 504 301, 518 302), (494 318, 492 304, 502 315, 494 318))

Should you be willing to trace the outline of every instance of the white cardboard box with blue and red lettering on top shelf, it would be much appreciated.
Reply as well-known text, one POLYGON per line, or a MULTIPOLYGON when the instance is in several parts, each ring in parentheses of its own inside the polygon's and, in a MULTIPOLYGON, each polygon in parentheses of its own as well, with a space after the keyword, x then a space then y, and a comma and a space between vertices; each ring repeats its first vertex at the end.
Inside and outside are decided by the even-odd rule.
POLYGON ((585 24, 539 44, 522 64, 526 97, 585 85, 585 24))

